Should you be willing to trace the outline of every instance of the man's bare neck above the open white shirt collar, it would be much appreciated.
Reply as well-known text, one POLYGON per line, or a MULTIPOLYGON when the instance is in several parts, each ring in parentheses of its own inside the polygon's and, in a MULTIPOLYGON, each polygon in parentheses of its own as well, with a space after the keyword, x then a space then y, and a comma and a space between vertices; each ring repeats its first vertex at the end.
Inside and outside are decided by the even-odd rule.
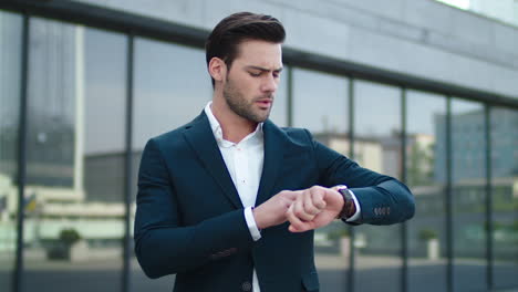
POLYGON ((226 140, 239 143, 257 128, 257 123, 234 113, 222 97, 213 98, 210 109, 221 126, 222 136, 226 140))

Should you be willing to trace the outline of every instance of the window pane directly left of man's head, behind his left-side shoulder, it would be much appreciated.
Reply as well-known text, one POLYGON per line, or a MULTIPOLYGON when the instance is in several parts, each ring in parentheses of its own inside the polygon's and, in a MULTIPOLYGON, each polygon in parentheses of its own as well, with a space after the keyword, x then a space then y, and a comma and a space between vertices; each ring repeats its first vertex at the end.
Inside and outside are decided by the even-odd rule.
MULTIPOLYGON (((136 195, 137 170, 146 142, 199 115, 213 97, 213 87, 201 50, 144 39, 135 41, 134 83, 132 194, 136 195)), ((147 279, 133 258, 132 291, 170 291, 173 284, 174 277, 147 279)))

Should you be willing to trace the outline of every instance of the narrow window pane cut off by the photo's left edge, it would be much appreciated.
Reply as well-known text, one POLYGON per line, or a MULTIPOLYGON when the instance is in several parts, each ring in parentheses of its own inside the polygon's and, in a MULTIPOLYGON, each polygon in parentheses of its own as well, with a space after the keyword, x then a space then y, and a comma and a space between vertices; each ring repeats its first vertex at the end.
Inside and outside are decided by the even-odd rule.
POLYGON ((11 289, 18 217, 22 18, 0 11, 0 291, 11 289))

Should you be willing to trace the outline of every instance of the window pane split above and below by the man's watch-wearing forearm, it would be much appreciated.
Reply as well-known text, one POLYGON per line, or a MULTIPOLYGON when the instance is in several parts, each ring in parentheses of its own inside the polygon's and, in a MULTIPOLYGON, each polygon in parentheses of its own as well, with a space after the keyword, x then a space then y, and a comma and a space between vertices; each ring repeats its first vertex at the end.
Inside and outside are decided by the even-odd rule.
MULTIPOLYGON (((401 178, 401 91, 354 82, 354 159, 401 178)), ((354 291, 402 291, 401 225, 354 228, 354 291), (372 281, 376 279, 376 281, 372 281)))

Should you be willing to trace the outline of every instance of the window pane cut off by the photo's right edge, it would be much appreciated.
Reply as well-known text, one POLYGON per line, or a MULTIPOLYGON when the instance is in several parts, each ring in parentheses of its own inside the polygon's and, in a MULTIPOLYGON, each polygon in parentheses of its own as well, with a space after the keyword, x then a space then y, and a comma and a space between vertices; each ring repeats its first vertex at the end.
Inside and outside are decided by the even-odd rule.
POLYGON ((518 286, 518 111, 491 108, 494 280, 518 286))

